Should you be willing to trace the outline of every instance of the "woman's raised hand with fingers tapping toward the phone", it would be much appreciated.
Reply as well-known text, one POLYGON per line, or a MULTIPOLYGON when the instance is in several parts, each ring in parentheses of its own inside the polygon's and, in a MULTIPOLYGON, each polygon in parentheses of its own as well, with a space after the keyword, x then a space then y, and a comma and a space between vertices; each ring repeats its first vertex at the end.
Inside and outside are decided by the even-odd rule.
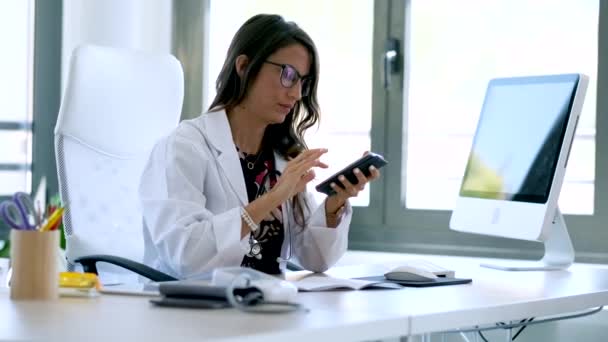
POLYGON ((319 158, 327 152, 325 148, 306 150, 287 162, 271 192, 283 201, 290 199, 306 189, 306 184, 315 178, 313 167, 327 168, 319 158))

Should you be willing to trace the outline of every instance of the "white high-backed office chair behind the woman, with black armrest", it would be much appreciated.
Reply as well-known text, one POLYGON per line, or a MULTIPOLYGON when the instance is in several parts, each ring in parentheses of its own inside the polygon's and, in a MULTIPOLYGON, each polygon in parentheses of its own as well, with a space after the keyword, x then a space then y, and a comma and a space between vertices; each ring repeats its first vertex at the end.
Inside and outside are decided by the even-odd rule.
POLYGON ((183 72, 171 55, 82 46, 74 50, 55 126, 68 265, 104 282, 173 279, 140 263, 137 189, 154 143, 177 126, 183 72), (168 277, 168 278, 167 278, 168 277), (126 279, 126 280, 125 280, 126 279))

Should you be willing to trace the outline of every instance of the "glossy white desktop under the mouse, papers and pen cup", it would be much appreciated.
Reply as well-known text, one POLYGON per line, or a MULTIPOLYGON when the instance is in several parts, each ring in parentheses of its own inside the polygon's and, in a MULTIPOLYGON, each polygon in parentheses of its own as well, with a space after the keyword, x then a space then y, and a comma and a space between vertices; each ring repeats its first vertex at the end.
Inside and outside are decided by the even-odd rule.
MULTIPOLYGON (((377 275, 414 256, 349 252, 330 274, 377 275), (363 261, 364 264, 359 264, 363 261), (373 265, 376 264, 376 265, 373 265)), ((309 313, 246 314, 233 309, 154 307, 144 297, 103 295, 54 302, 16 302, 0 292, 0 339, 83 337, 159 340, 373 340, 416 335, 525 317, 564 314, 608 304, 608 269, 574 265, 568 271, 504 272, 481 259, 424 256, 472 284, 401 290, 300 293, 309 313)))

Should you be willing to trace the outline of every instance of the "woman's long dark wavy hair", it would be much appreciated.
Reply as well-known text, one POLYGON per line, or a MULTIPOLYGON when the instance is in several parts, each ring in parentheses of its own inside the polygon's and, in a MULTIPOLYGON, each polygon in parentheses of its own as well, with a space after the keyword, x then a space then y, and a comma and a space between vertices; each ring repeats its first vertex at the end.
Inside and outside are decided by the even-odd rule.
MULTIPOLYGON (((310 93, 295 104, 282 123, 268 125, 262 140, 263 149, 274 150, 285 159, 294 158, 307 148, 304 132, 317 124, 320 118, 317 101, 317 48, 310 36, 294 22, 285 21, 283 17, 272 14, 258 14, 247 20, 230 43, 226 60, 216 81, 217 95, 209 106, 211 112, 222 109, 229 111, 240 104, 268 56, 293 44, 304 46, 310 55, 310 93), (235 67, 236 59, 240 55, 247 56, 249 60, 242 77, 238 75, 235 67)), ((305 226, 300 202, 303 201, 294 197, 294 208, 298 214, 296 220, 305 226)), ((306 202, 303 203, 305 206, 306 202)))

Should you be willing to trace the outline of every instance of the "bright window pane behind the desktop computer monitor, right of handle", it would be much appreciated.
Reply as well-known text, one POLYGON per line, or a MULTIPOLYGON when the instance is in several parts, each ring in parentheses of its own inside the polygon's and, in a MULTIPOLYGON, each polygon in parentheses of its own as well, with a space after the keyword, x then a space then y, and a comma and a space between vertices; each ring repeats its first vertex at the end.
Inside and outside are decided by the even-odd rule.
POLYGON ((489 79, 582 72, 590 82, 559 205, 592 214, 599 1, 417 0, 410 11, 406 207, 453 208, 489 79))

